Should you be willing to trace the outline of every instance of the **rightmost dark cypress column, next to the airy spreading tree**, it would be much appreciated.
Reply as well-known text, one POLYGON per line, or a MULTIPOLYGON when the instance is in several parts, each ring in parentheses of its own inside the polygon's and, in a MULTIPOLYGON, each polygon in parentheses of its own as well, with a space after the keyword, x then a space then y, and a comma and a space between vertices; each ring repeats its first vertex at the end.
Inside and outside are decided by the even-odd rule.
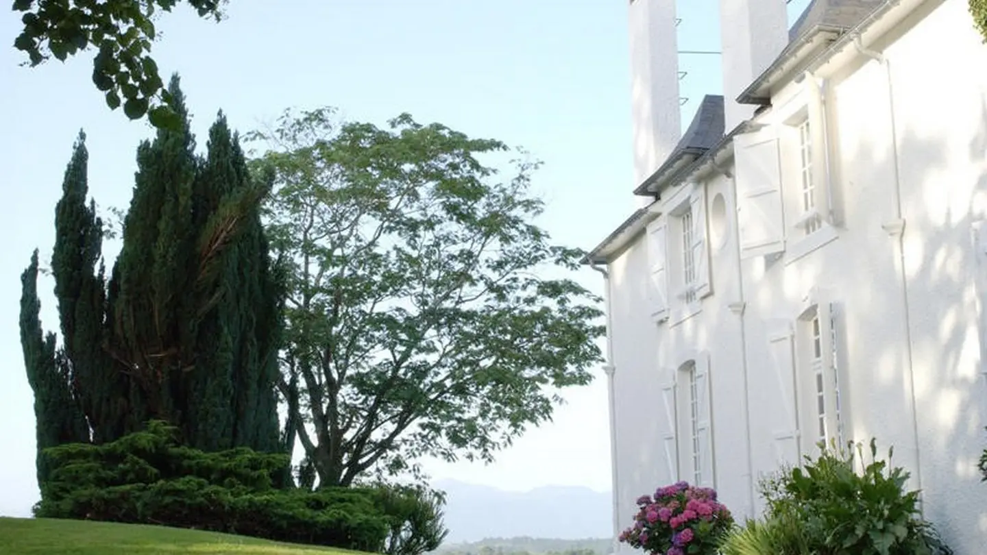
POLYGON ((200 322, 214 347, 199 351, 190 395, 197 413, 190 419, 195 442, 211 448, 279 448, 277 379, 280 298, 270 268, 260 199, 270 181, 251 179, 240 148, 220 113, 209 129, 207 155, 196 182, 195 227, 200 245, 223 243, 210 270, 217 283, 214 309, 200 322), (221 238, 235 218, 235 237, 221 238), (232 407, 230 406, 232 401, 232 407), (232 410, 231 410, 232 409, 232 410))

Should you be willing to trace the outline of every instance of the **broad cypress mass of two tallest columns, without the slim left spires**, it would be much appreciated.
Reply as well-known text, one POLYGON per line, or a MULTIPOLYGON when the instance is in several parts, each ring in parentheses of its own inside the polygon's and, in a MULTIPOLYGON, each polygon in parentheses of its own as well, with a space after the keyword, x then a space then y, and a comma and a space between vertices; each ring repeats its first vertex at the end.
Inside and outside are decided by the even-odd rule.
POLYGON ((205 450, 279 450, 280 292, 268 261, 255 183, 220 115, 207 154, 183 118, 138 154, 136 187, 111 280, 111 344, 137 376, 148 418, 205 450))

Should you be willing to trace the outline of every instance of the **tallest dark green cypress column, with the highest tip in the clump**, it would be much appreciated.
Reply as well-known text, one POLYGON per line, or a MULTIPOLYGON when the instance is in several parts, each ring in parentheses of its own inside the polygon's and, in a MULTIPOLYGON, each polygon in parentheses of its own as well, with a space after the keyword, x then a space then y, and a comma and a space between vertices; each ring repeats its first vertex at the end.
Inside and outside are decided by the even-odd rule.
POLYGON ((194 318, 185 312, 195 182, 195 142, 177 77, 169 92, 182 118, 137 147, 137 173, 123 221, 123 245, 110 284, 109 349, 133 377, 132 404, 142 419, 185 419, 183 369, 193 357, 194 318))

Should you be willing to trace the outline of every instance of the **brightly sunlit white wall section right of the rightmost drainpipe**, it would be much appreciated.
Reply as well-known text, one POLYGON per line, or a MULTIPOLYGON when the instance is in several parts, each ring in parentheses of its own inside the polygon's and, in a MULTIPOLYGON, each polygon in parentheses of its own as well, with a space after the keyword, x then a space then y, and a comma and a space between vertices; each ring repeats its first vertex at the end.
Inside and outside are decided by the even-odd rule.
MULTIPOLYGON (((987 291, 977 286, 987 266, 971 233, 987 218, 987 74, 975 69, 987 67, 987 45, 963 0, 929 2, 895 33, 874 47, 892 77, 921 487, 956 554, 977 555, 987 549, 987 484, 975 469, 987 446, 987 291)), ((875 62, 866 69, 882 73, 875 62)), ((872 112, 865 95, 854 100, 841 119, 872 112)), ((868 129, 857 156, 845 153, 848 164, 864 164, 878 132, 868 129)))

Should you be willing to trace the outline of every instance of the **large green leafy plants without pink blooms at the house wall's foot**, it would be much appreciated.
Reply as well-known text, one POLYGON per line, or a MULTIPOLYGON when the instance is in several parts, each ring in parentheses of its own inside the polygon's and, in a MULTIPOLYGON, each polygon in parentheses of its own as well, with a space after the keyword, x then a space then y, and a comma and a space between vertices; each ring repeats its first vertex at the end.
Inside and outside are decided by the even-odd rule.
POLYGON ((852 443, 848 449, 835 443, 820 447, 815 460, 806 457, 801 467, 762 482, 765 523, 735 531, 724 555, 746 555, 766 546, 766 552, 792 555, 951 554, 921 519, 919 493, 905 491, 908 473, 889 466, 891 450, 887 460, 878 460, 872 439, 868 461, 860 443, 856 449, 852 443))

